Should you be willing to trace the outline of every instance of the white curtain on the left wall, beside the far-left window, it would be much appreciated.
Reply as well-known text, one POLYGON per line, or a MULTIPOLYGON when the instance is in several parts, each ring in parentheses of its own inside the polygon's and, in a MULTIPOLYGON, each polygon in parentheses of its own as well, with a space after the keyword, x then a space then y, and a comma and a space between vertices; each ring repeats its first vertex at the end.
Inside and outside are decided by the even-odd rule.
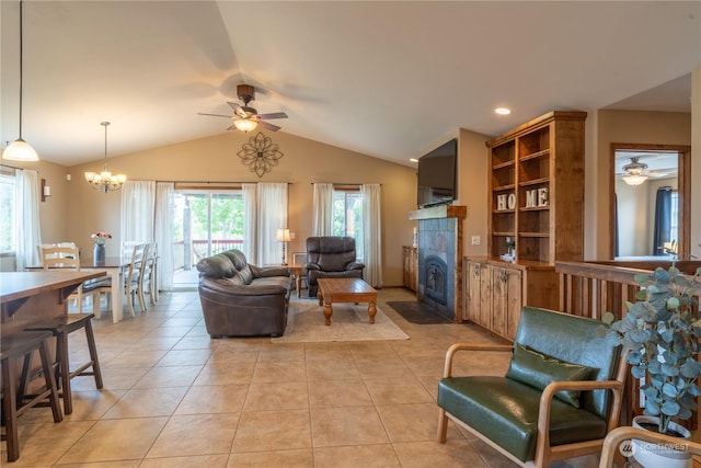
POLYGON ((42 243, 42 229, 39 226, 39 183, 36 171, 16 171, 16 227, 18 240, 16 269, 24 271, 25 266, 42 264, 36 246, 42 243))

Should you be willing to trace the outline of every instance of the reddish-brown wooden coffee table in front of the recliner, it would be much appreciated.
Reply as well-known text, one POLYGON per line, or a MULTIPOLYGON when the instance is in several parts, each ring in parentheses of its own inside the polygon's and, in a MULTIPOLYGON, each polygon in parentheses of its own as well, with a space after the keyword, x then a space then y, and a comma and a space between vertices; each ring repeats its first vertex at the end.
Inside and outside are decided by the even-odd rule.
POLYGON ((333 315, 333 303, 368 303, 369 322, 375 323, 377 315, 377 290, 369 284, 359 278, 320 278, 319 284, 319 305, 324 306, 324 318, 326 324, 331 324, 331 316, 333 315))

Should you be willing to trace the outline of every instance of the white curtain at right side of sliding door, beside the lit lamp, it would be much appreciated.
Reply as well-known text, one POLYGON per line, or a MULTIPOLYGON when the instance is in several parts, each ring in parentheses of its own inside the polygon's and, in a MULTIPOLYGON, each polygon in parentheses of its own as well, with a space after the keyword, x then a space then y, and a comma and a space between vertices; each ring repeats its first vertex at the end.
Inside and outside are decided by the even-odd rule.
POLYGON ((283 263, 283 244, 277 241, 277 230, 287 227, 287 184, 258 184, 258 266, 283 263))

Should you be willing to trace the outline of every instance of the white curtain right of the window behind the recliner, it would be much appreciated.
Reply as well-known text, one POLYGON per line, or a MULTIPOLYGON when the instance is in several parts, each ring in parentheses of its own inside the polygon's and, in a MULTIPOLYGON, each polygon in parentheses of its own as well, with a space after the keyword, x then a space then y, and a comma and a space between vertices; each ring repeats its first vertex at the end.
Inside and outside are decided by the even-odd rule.
POLYGON ((372 287, 382 287, 382 228, 381 194, 379 184, 364 184, 363 249, 364 279, 372 287))

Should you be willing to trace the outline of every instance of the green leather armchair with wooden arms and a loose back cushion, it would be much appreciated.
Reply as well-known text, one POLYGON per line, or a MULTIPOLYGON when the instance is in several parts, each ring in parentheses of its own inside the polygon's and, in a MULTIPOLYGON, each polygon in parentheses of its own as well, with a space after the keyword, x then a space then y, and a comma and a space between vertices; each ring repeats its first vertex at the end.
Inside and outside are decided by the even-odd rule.
POLYGON ((619 423, 625 357, 601 322, 524 307, 514 345, 453 344, 438 384, 438 441, 448 419, 520 466, 596 454, 619 423), (505 376, 453 376, 458 352, 508 351, 505 376))

